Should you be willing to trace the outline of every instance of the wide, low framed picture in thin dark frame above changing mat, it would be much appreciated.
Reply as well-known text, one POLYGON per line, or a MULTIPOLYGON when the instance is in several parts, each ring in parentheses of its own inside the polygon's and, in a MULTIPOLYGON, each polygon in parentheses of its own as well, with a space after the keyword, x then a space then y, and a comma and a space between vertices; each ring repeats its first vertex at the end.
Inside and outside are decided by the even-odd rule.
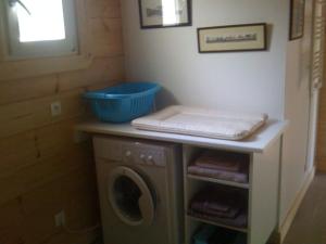
POLYGON ((200 53, 266 50, 266 24, 199 28, 198 48, 200 53))

